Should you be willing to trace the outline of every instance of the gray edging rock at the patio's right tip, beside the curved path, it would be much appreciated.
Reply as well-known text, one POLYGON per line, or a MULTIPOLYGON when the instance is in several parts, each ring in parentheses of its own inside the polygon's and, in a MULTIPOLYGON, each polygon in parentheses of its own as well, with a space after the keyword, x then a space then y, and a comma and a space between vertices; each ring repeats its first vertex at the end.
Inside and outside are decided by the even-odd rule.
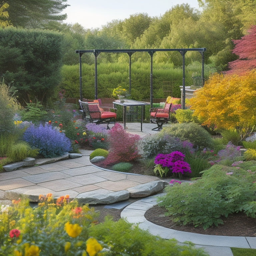
POLYGON ((157 192, 163 190, 165 181, 150 181, 145 184, 141 184, 132 188, 128 188, 127 191, 130 192, 130 197, 147 197, 157 192))

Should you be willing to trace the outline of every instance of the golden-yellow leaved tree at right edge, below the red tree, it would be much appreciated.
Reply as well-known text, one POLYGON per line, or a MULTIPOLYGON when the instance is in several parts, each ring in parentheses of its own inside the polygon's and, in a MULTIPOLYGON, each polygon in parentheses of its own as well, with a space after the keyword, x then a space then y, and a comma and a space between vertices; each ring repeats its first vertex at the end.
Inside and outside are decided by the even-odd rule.
POLYGON ((190 100, 202 125, 236 129, 241 135, 256 125, 256 70, 242 76, 214 74, 190 100))

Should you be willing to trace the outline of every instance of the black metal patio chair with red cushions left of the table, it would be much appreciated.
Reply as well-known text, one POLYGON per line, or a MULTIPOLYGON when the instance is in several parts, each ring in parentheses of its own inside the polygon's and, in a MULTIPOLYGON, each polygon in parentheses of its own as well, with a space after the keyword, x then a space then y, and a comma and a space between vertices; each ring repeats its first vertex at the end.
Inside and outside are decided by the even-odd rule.
POLYGON ((81 111, 83 112, 83 119, 95 124, 109 124, 116 123, 116 108, 100 107, 98 103, 88 103, 78 100, 81 111))

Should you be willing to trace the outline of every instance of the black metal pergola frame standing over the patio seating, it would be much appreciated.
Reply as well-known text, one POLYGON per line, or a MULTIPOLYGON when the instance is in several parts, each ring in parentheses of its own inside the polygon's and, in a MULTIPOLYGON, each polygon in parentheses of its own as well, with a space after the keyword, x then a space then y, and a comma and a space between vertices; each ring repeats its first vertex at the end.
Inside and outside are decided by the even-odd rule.
POLYGON ((79 53, 79 63, 80 63, 80 100, 82 100, 82 63, 81 57, 84 53, 93 53, 95 56, 95 99, 97 96, 97 57, 101 52, 108 53, 127 53, 129 55, 129 93, 131 93, 131 56, 135 52, 148 52, 151 57, 151 66, 150 66, 150 105, 153 105, 153 54, 155 52, 170 52, 178 51, 182 56, 182 67, 183 67, 183 79, 182 79, 182 109, 185 108, 185 54, 187 51, 197 51, 202 56, 202 82, 204 84, 204 52, 206 48, 186 48, 186 49, 95 49, 95 50, 76 50, 76 53, 79 53))

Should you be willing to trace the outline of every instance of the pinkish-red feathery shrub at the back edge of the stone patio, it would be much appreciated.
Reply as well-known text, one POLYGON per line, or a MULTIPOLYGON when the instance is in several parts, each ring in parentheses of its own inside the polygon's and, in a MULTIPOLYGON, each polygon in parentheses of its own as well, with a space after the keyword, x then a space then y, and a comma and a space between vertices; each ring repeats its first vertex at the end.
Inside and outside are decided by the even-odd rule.
POLYGON ((109 131, 109 154, 103 164, 106 166, 139 159, 137 149, 139 140, 139 135, 127 133, 120 124, 116 123, 109 131))

